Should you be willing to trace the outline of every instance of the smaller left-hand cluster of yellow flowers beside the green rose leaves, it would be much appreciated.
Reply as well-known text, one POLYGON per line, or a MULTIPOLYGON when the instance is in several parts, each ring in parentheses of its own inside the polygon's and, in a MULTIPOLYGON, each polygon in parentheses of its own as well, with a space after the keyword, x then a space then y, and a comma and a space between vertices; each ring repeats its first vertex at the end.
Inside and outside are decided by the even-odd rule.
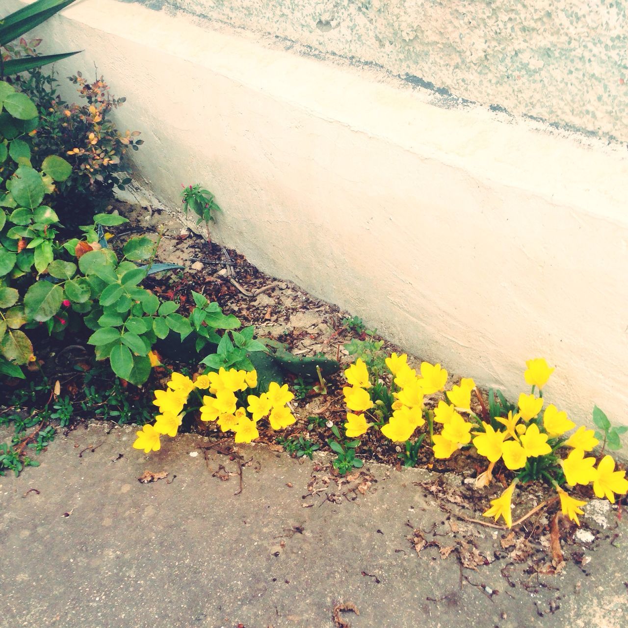
POLYGON ((199 375, 194 381, 174 372, 166 389, 154 393, 153 404, 160 412, 155 417, 154 425, 146 424, 137 432, 133 447, 144 450, 144 453, 157 452, 161 448, 161 435, 176 436, 185 414, 183 408, 193 392, 197 393, 197 398, 200 398, 201 391, 209 393, 202 398, 201 420, 216 421, 222 431, 234 431, 236 443, 250 443, 258 438, 256 423, 267 414, 273 430, 281 430, 295 423, 295 416, 286 405, 294 398, 288 391, 288 384, 279 386, 271 382, 268 393, 247 396, 249 405, 245 409, 241 393, 256 386, 256 371, 227 371, 221 368, 217 373, 199 375), (252 414, 252 418, 247 416, 246 410, 252 414))

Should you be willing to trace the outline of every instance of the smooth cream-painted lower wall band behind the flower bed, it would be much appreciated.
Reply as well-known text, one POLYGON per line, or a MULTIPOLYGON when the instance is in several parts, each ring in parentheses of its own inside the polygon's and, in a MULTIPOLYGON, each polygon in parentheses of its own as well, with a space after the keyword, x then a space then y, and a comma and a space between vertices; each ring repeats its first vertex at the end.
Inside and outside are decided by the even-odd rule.
POLYGON ((85 53, 61 75, 96 63, 154 192, 216 193, 217 240, 483 386, 544 356, 574 420, 628 423, 625 148, 136 4, 63 15, 43 36, 85 53))

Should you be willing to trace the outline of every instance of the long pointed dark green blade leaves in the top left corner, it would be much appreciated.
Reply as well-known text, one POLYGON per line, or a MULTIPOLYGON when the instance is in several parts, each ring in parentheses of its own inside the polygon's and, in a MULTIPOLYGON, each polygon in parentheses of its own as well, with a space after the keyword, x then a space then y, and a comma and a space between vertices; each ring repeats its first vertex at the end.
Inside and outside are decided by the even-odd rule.
MULTIPOLYGON (((14 53, 15 48, 9 45, 11 41, 16 40, 27 31, 39 26, 41 23, 45 22, 46 19, 50 18, 58 11, 65 9, 65 7, 73 2, 74 0, 37 0, 0 19, 0 47, 5 48, 8 53, 7 55, 0 50, 0 80, 4 80, 6 76, 17 74, 18 72, 25 72, 26 70, 33 70, 34 68, 39 68, 48 63, 54 63, 77 54, 78 51, 58 55, 45 55, 43 57, 35 57, 33 55, 33 57, 30 58, 21 58, 21 55, 19 55, 12 59, 11 53, 14 53)), ((32 46, 33 40, 31 40, 30 43, 32 46)), ((31 46, 26 43, 26 40, 22 39, 20 44, 23 48, 26 48, 26 50, 31 48, 31 46)))

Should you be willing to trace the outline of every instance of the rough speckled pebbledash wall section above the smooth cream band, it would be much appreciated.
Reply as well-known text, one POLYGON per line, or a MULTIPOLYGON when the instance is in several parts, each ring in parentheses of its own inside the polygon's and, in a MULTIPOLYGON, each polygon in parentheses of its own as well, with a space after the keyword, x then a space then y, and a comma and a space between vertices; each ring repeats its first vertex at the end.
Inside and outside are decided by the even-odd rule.
POLYGON ((628 140, 625 0, 130 1, 271 33, 515 115, 628 140))

